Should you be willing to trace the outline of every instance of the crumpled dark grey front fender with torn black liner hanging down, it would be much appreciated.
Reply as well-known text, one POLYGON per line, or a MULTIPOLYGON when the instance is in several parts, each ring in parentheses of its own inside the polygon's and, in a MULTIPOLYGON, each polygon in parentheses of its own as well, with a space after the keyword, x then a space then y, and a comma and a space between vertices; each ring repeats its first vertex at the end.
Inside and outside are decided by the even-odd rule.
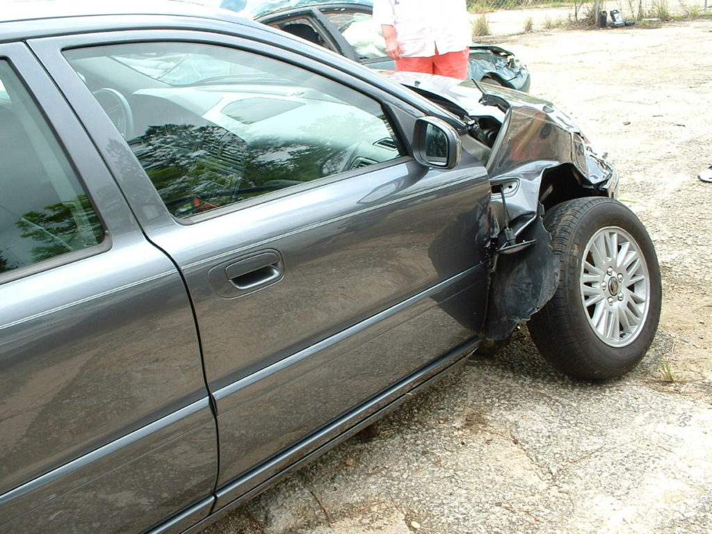
POLYGON ((507 244, 505 233, 493 236, 496 250, 483 332, 491 340, 508 337, 518 323, 543 308, 557 288, 559 261, 542 220, 541 202, 548 194, 542 191, 545 173, 562 166, 575 169, 567 177, 577 181, 580 196, 612 197, 618 187, 616 169, 553 105, 541 101, 509 105, 487 164, 492 214, 499 228, 511 228, 518 243, 534 243, 515 253, 499 253, 507 244))

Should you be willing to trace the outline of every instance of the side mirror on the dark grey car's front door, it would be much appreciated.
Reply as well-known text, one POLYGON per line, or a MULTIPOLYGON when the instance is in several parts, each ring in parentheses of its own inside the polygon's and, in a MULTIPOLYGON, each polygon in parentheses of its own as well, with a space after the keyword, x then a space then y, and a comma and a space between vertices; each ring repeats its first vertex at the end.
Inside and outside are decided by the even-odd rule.
POLYGON ((460 136, 438 117, 420 117, 415 122, 413 152, 417 162, 426 167, 452 169, 460 162, 460 136))

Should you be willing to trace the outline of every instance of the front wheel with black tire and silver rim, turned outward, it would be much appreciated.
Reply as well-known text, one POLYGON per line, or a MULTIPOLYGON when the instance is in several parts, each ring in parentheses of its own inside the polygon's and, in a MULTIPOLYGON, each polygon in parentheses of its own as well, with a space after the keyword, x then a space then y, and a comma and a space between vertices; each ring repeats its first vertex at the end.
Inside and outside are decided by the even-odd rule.
POLYGON ((554 206, 544 226, 560 279, 530 320, 535 345, 570 377, 624 375, 644 357, 660 318, 660 269, 650 236, 626 206, 601 197, 554 206))

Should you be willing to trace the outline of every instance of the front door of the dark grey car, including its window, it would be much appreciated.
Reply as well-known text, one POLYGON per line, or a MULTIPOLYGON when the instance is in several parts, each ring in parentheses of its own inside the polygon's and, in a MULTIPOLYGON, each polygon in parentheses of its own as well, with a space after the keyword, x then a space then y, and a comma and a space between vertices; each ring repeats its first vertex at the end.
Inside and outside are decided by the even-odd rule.
POLYGON ((385 108, 392 96, 305 56, 218 34, 33 46, 187 282, 219 485, 475 335, 486 172, 414 162, 407 132, 422 112, 385 108))

